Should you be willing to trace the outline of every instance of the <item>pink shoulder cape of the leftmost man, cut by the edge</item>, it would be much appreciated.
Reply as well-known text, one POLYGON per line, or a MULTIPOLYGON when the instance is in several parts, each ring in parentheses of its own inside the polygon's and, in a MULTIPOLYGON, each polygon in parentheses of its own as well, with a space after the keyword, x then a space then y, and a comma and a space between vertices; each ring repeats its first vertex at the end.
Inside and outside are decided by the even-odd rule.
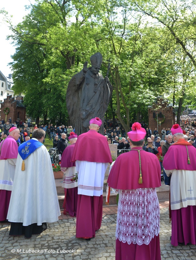
MULTIPOLYGON (((1 143, 0 143, 1 145, 1 143)), ((13 159, 18 156, 18 145, 14 137, 8 136, 2 144, 0 160, 13 159)))

